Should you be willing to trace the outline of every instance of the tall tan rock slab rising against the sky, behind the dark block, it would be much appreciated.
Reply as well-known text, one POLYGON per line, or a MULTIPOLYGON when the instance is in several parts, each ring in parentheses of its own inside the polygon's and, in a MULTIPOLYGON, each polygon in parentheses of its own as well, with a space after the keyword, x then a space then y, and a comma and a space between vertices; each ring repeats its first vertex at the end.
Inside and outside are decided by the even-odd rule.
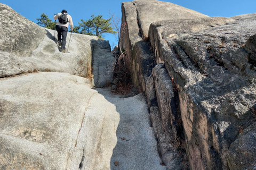
MULTIPOLYGON (((123 3, 122 13, 121 47, 119 48, 125 50, 125 54, 129 56, 127 57, 127 62, 129 62, 132 70, 137 69, 136 63, 132 61, 131 57, 134 53, 133 47, 138 41, 148 39, 150 23, 170 19, 207 17, 204 14, 176 4, 155 0, 140 0, 123 3)), ((138 76, 137 73, 132 72, 132 78, 135 84, 138 84, 138 82, 136 82, 134 77, 138 76)))

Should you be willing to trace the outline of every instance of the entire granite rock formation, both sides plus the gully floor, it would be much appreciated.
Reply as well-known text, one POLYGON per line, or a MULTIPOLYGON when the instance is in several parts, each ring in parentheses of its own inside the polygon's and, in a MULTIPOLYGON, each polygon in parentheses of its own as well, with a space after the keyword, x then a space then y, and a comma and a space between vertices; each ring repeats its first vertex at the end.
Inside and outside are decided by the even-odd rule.
POLYGON ((255 16, 124 2, 117 60, 0 3, 0 170, 255 169, 255 16), (139 95, 110 92, 122 57, 139 95))

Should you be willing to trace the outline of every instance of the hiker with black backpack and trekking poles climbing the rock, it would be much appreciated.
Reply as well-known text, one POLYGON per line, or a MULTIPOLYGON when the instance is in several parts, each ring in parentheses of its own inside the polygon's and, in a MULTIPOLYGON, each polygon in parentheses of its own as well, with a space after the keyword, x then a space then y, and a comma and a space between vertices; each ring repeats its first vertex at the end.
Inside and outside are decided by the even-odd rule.
POLYGON ((65 53, 66 51, 66 38, 68 34, 68 24, 70 24, 70 30, 73 32, 73 22, 71 16, 66 10, 62 10, 61 13, 57 15, 54 14, 54 20, 58 19, 56 24, 56 30, 58 32, 58 45, 61 46, 61 52, 65 53))

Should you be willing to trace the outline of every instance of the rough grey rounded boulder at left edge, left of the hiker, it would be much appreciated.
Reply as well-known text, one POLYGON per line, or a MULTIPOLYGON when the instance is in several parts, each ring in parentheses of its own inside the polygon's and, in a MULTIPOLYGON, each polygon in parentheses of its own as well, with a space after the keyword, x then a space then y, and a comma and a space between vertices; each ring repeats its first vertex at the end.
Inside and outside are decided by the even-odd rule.
POLYGON ((0 4, 0 21, 0 50, 18 56, 29 56, 46 33, 42 27, 4 4, 0 4))

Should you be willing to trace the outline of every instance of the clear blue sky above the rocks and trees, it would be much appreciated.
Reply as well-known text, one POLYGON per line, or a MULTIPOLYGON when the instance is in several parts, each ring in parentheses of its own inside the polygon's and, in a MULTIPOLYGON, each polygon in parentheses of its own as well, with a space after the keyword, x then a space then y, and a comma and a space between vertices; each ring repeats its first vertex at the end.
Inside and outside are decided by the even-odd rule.
MULTIPOLYGON (((109 11, 115 13, 116 16, 121 18, 122 0, 77 0, 77 1, 36 1, 36 0, 1 0, 0 3, 6 4, 13 8, 16 12, 25 16, 25 18, 37 23, 36 18, 40 18, 42 13, 45 13, 50 19, 53 20, 54 13, 59 13, 61 10, 66 9, 72 16, 75 25, 81 22, 81 19, 88 20, 91 15, 103 15, 104 19, 110 18, 109 11)), ((231 17, 241 14, 256 13, 256 0, 165 0, 191 10, 201 12, 208 16, 225 16, 231 17)), ((114 35, 106 33, 103 37, 109 40, 111 46, 117 45, 114 35)))

